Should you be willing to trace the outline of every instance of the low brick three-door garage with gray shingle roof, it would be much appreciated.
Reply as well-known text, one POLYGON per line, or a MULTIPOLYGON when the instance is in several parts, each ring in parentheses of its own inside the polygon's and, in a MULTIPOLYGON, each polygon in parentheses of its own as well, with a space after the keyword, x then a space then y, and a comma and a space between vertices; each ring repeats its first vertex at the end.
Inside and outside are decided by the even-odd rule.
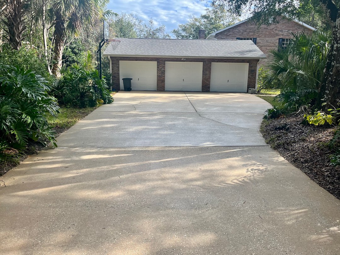
POLYGON ((266 58, 249 40, 118 39, 103 53, 115 90, 132 78, 133 90, 247 92, 266 58))

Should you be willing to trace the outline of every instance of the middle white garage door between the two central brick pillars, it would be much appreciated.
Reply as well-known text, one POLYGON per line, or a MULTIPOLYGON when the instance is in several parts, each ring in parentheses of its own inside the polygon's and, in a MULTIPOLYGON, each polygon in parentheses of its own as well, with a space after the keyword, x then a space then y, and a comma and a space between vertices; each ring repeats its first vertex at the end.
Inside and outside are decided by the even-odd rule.
POLYGON ((202 62, 165 62, 165 90, 201 91, 202 62))

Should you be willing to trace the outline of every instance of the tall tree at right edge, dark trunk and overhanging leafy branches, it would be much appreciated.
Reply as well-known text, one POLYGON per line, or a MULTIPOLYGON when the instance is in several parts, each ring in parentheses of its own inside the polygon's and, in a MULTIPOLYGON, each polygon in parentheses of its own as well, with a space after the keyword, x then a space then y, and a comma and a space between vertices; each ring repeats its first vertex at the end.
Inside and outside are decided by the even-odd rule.
MULTIPOLYGON (((290 19, 299 18, 302 8, 309 6, 313 10, 318 10, 321 7, 332 33, 332 41, 327 54, 318 104, 321 107, 321 99, 324 99, 329 104, 337 106, 338 99, 340 99, 340 0, 213 0, 213 3, 224 7, 235 15, 240 15, 241 11, 248 10, 252 14, 253 22, 268 26, 273 22, 277 23, 279 15, 290 19)), ((329 105, 325 107, 329 107, 329 105)))

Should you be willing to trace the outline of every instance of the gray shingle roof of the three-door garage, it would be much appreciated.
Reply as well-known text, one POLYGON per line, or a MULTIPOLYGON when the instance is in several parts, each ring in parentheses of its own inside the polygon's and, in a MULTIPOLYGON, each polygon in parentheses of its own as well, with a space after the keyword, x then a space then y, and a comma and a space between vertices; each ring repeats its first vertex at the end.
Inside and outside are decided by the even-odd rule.
POLYGON ((109 45, 103 55, 265 58, 251 40, 117 38, 116 50, 109 45))

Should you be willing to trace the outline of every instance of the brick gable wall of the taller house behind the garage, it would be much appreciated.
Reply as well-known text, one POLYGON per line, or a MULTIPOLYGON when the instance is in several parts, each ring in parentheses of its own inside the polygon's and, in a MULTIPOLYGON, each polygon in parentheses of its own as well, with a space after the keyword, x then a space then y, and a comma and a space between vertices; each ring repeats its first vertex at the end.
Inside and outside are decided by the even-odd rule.
POLYGON ((236 39, 236 37, 253 38, 256 37, 257 47, 266 54, 267 58, 261 60, 261 65, 270 61, 270 50, 277 50, 279 38, 293 38, 292 33, 311 33, 312 30, 284 18, 279 19, 279 24, 271 26, 262 25, 260 29, 255 24, 243 22, 235 27, 224 30, 215 35, 216 39, 236 39))

